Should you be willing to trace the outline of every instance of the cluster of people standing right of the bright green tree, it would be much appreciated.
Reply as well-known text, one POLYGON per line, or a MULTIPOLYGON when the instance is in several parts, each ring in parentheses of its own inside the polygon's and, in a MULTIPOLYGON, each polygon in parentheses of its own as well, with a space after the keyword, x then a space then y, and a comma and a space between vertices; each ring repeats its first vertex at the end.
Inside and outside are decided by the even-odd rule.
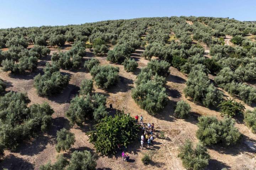
MULTIPOLYGON (((139 116, 135 116, 136 123, 138 123, 139 116)), ((148 147, 150 148, 150 145, 153 145, 153 130, 154 130, 154 123, 150 124, 148 123, 148 129, 146 129, 146 126, 143 124, 143 117, 140 116, 140 125, 142 125, 143 134, 141 136, 140 144, 141 149, 143 149, 144 143, 146 142, 148 144, 148 147)))

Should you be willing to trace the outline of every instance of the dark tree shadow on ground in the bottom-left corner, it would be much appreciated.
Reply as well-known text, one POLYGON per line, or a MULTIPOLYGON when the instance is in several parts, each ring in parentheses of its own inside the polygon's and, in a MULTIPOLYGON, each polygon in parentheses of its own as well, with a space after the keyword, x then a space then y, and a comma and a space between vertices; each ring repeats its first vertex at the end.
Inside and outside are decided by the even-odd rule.
POLYGON ((22 158, 15 157, 13 154, 7 155, 2 162, 0 162, 1 169, 7 168, 9 170, 33 170, 33 164, 27 162, 22 158))

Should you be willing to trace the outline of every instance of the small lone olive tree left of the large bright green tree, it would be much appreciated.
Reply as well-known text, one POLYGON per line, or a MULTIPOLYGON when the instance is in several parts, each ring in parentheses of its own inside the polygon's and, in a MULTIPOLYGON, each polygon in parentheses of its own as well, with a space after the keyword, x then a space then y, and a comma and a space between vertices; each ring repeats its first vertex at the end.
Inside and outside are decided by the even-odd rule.
POLYGON ((67 131, 65 128, 57 131, 57 145, 55 146, 57 152, 64 150, 65 152, 71 148, 75 143, 75 134, 67 131))

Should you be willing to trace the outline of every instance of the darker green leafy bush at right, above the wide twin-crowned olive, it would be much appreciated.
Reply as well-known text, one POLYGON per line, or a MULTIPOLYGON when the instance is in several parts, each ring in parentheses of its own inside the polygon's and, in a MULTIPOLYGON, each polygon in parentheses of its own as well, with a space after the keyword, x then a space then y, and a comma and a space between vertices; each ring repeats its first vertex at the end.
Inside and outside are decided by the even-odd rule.
POLYGON ((221 115, 228 115, 230 117, 234 117, 238 114, 243 114, 244 105, 240 102, 236 102, 234 99, 229 99, 227 101, 222 101, 219 106, 221 115))

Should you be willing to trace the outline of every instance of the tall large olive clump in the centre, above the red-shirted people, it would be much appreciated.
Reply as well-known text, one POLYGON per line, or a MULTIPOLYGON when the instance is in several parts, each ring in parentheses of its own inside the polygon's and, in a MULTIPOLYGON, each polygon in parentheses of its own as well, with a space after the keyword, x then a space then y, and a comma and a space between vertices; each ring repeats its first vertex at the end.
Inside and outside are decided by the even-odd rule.
POLYGON ((141 108, 154 115, 167 104, 168 96, 164 85, 169 75, 170 64, 165 61, 151 61, 137 76, 136 87, 132 89, 132 98, 141 108))

